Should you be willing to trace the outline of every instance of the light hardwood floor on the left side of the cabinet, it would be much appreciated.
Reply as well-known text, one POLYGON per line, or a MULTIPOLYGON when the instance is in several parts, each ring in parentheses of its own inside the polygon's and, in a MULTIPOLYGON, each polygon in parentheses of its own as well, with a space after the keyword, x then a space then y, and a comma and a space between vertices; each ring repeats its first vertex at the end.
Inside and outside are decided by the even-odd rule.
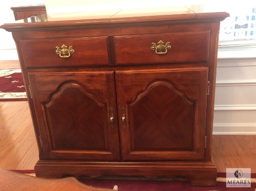
MULTIPOLYGON (((0 61, 0 69, 18 69, 19 61, 0 61)), ((34 169, 38 148, 27 101, 0 102, 0 168, 34 169)))

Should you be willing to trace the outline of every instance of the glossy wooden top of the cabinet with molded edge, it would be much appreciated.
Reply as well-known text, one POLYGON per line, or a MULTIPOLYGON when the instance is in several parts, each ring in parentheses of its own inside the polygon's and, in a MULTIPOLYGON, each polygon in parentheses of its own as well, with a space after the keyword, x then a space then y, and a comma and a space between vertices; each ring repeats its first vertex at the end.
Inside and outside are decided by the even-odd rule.
POLYGON ((155 8, 84 11, 76 13, 47 13, 3 24, 7 31, 33 30, 38 28, 57 28, 60 26, 106 25, 140 22, 195 22, 222 21, 229 13, 212 8, 196 6, 169 6, 155 8))

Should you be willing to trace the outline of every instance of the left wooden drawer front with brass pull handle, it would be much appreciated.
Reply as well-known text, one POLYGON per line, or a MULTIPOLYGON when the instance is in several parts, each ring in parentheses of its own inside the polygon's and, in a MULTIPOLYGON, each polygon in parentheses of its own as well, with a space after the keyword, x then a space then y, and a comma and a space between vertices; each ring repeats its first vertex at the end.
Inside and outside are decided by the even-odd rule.
MULTIPOLYGON (((20 40, 27 68, 76 65, 106 65, 108 37, 20 40), (73 46, 69 57, 56 53, 56 46, 73 46)), ((67 53, 68 56, 68 53, 67 53)))

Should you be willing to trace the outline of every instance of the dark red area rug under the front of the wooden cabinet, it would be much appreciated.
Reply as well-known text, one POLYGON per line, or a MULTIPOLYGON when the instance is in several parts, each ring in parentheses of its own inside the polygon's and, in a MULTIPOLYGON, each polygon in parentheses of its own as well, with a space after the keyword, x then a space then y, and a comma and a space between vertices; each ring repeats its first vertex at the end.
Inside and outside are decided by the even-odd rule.
MULTIPOLYGON (((34 176, 34 170, 12 170, 14 172, 26 173, 34 176)), ((191 186, 186 178, 171 178, 171 180, 142 179, 143 177, 131 179, 131 177, 116 176, 108 178, 78 177, 85 184, 94 187, 113 189, 118 186, 118 191, 256 191, 256 174, 251 174, 251 187, 226 187, 226 173, 217 174, 216 186, 191 186)))

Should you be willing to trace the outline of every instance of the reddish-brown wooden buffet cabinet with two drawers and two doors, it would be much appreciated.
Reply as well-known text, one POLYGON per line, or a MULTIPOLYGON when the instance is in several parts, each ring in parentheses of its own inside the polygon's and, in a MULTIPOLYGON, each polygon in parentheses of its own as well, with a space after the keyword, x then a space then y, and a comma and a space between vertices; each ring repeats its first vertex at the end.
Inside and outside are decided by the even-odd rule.
POLYGON ((229 14, 159 10, 1 25, 19 52, 40 155, 36 176, 183 176, 216 185, 216 58, 229 14))

